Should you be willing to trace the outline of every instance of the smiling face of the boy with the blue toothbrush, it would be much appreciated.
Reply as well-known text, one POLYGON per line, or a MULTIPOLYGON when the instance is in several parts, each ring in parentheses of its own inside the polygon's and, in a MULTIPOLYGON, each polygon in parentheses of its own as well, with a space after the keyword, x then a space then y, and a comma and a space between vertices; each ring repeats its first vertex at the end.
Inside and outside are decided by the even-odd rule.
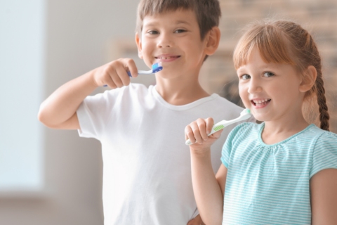
POLYGON ((161 62, 160 75, 199 75, 206 56, 206 39, 201 41, 199 25, 193 11, 178 10, 147 15, 143 20, 143 30, 136 34, 138 54, 151 68, 161 62))

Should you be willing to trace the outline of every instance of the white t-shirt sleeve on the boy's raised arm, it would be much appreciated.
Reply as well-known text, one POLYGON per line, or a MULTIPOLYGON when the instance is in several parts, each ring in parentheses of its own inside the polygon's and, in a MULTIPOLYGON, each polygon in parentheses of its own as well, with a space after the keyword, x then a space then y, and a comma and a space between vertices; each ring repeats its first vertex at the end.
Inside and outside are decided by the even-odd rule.
POLYGON ((77 109, 79 136, 100 139, 106 122, 112 113, 112 103, 116 91, 105 91, 95 96, 87 96, 77 109))

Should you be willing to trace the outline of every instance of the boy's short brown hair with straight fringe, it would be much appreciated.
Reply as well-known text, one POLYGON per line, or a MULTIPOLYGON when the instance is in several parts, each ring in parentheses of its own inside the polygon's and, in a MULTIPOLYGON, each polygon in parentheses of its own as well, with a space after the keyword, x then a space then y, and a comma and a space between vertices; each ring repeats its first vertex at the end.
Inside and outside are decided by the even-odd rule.
POLYGON ((194 11, 200 28, 201 40, 212 27, 218 27, 221 17, 218 0, 140 0, 136 32, 143 30, 143 20, 146 15, 176 11, 179 9, 194 11))

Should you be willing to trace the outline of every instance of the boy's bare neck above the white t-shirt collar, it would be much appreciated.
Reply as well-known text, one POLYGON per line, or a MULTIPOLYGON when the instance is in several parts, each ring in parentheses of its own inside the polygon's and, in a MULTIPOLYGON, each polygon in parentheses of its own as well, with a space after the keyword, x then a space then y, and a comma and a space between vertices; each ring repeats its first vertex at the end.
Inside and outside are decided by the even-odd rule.
POLYGON ((209 94, 201 87, 197 79, 163 79, 157 77, 156 89, 167 103, 186 105, 209 94))

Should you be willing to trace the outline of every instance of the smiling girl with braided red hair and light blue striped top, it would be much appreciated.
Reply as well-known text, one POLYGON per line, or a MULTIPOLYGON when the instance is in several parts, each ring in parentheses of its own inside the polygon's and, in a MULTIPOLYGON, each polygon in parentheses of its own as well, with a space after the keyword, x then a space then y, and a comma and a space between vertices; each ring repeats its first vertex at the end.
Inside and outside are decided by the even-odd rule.
POLYGON ((234 51, 239 95, 261 124, 235 127, 214 176, 213 120, 185 128, 205 224, 337 224, 337 135, 329 132, 317 46, 288 21, 254 23, 234 51), (302 108, 317 99, 320 129, 302 108))

